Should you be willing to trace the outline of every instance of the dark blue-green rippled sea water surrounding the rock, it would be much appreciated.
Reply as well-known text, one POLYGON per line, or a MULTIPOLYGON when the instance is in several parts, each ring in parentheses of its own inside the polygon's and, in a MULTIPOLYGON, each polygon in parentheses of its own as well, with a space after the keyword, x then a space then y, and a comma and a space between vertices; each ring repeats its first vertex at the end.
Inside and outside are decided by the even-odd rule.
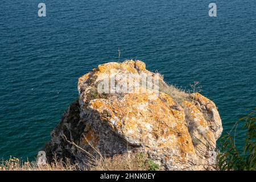
POLYGON ((229 131, 256 106, 256 1, 214 1, 216 18, 210 2, 1 0, 0 158, 35 156, 77 97, 77 78, 118 61, 118 47, 170 84, 199 81, 229 131))

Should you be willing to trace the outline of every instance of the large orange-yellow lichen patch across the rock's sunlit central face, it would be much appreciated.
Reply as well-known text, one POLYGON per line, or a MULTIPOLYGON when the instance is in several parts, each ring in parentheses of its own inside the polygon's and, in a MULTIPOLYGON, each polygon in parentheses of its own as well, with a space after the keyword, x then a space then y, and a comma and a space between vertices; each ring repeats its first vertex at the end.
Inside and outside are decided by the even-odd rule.
POLYGON ((107 112, 102 120, 133 143, 176 148, 184 154, 195 152, 185 126, 184 110, 171 109, 175 102, 167 94, 159 93, 154 100, 150 98, 148 94, 125 94, 93 100, 90 107, 100 115, 107 112))

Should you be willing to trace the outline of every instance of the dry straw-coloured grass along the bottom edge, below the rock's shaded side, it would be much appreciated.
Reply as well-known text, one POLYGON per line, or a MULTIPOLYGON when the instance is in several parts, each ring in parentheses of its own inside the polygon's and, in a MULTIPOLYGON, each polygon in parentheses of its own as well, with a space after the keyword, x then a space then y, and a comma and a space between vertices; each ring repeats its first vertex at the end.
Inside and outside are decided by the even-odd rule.
POLYGON ((0 163, 0 171, 148 171, 157 170, 159 166, 146 158, 141 153, 131 156, 118 155, 113 158, 98 158, 87 168, 79 168, 76 164, 69 163, 69 160, 53 160, 51 164, 38 166, 36 162, 23 162, 18 158, 10 158, 0 163))

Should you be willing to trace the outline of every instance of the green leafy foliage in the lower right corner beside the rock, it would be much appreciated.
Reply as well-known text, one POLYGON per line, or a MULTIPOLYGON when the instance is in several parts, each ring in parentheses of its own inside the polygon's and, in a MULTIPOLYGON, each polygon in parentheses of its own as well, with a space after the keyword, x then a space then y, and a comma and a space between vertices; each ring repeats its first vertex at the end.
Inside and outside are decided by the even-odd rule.
POLYGON ((232 131, 230 131, 228 135, 223 136, 220 140, 220 154, 217 156, 218 166, 221 170, 255 171, 256 108, 246 117, 241 118, 234 127, 237 127, 239 122, 243 123, 243 129, 246 130, 243 151, 238 151, 234 142, 236 130, 234 131, 234 136, 232 131))

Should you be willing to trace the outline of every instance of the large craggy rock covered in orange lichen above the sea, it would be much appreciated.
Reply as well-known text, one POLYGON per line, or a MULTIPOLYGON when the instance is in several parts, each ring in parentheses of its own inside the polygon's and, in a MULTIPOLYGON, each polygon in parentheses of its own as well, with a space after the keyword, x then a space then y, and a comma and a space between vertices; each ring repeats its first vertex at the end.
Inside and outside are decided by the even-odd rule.
POLYGON ((99 65, 79 78, 78 90, 79 99, 65 111, 45 147, 49 159, 56 154, 86 165, 89 154, 144 152, 167 170, 213 169, 222 125, 208 98, 168 86, 142 61, 133 60, 99 65), (131 73, 158 80, 160 92, 138 86, 129 77, 117 78, 131 73), (112 87, 113 77, 119 90, 112 87), (106 78, 109 93, 101 89, 106 78), (134 86, 131 92, 120 89, 129 85, 125 82, 134 86))

